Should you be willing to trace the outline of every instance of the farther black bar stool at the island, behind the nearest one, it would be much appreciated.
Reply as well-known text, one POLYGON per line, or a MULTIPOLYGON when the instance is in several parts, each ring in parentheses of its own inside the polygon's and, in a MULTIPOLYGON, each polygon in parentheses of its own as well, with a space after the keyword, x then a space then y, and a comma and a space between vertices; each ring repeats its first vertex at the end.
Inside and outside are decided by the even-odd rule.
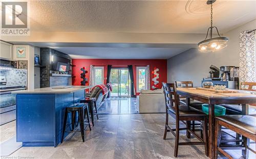
POLYGON ((89 112, 91 114, 91 119, 94 126, 94 117, 97 116, 97 119, 99 119, 96 98, 86 97, 83 100, 80 100, 80 103, 89 104, 89 112), (94 109, 95 109, 95 112, 94 112, 94 109))

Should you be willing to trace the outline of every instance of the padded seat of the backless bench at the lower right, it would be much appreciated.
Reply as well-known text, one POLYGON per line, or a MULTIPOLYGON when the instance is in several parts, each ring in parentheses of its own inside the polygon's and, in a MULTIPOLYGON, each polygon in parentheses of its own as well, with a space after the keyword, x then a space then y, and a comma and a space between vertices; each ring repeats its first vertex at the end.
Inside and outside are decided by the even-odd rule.
POLYGON ((249 115, 226 115, 216 117, 220 121, 256 135, 256 118, 249 115))

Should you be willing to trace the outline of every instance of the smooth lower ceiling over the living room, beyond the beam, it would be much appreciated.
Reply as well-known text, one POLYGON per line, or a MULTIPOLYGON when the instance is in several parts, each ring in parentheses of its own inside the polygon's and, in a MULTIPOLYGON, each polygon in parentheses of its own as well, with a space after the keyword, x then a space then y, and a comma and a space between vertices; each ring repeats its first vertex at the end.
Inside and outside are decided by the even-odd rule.
POLYGON ((169 59, 189 48, 51 47, 72 59, 169 59))

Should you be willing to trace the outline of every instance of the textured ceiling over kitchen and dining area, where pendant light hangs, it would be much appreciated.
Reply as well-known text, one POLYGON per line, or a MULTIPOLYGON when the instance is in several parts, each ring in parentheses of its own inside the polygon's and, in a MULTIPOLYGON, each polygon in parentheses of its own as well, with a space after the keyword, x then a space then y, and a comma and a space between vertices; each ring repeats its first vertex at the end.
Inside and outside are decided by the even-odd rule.
MULTIPOLYGON (((205 33, 206 1, 31 1, 32 31, 205 33)), ((256 1, 214 4, 221 33, 256 18, 256 1)))

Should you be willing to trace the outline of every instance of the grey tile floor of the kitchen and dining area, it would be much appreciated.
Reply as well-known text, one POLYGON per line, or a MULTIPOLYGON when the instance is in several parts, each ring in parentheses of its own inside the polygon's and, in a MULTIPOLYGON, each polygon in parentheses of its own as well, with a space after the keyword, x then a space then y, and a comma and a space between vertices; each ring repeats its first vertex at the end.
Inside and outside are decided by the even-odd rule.
MULTIPOLYGON (((86 130, 85 142, 80 133, 73 133, 55 148, 22 147, 8 158, 175 158, 173 135, 163 140, 164 121, 165 114, 100 115, 92 130, 86 130)), ((169 125, 175 126, 175 120, 169 125)), ((180 141, 196 139, 187 139, 181 131, 180 141)), ((177 158, 207 157, 204 146, 180 146, 177 158)))

